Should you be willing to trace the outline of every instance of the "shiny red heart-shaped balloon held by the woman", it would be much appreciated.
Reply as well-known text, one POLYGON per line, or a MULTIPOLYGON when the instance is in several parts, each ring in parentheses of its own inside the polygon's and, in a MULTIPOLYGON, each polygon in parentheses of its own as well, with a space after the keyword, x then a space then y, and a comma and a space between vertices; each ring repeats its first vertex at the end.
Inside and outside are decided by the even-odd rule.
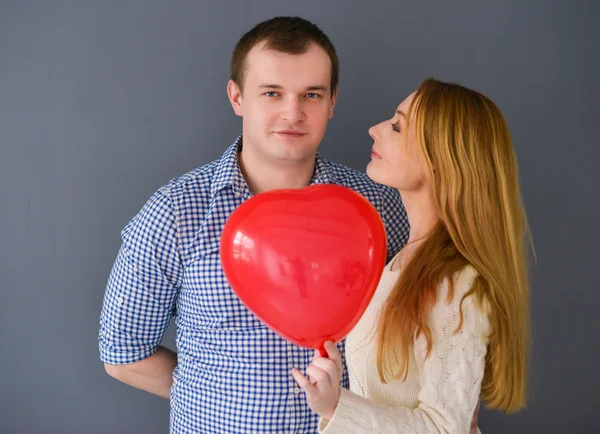
POLYGON ((247 200, 225 224, 220 250, 242 302, 280 336, 323 354, 367 308, 387 246, 371 203, 327 184, 247 200))

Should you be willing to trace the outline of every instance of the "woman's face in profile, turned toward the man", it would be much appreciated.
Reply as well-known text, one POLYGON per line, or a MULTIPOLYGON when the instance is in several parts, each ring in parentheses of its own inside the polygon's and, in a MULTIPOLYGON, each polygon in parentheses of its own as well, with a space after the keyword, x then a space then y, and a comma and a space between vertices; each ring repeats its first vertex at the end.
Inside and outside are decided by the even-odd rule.
POLYGON ((410 125, 406 124, 406 113, 414 97, 413 92, 400 103, 391 119, 369 129, 374 143, 367 175, 401 192, 420 190, 427 181, 417 150, 415 117, 412 116, 410 125))

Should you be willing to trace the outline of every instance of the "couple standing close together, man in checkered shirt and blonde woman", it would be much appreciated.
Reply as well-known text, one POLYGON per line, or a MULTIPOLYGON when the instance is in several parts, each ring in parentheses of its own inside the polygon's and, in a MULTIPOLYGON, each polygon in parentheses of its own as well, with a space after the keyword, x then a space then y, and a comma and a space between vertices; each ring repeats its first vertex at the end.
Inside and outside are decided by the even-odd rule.
POLYGON ((316 153, 337 84, 335 49, 315 25, 255 26, 227 86, 242 135, 160 188, 121 233, 101 359, 112 377, 170 398, 172 433, 470 433, 480 400, 525 405, 526 220, 502 114, 426 80, 370 129, 367 177, 316 153), (323 183, 369 199, 389 249, 370 306, 326 358, 256 319, 219 258, 228 216, 252 194, 323 183), (177 353, 160 346, 171 319, 177 353))

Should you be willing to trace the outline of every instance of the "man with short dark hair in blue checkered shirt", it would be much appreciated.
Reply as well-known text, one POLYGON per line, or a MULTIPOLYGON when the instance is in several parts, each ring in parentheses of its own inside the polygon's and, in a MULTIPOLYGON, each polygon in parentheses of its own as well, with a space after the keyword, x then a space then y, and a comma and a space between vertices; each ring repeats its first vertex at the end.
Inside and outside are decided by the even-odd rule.
POLYGON ((316 431, 291 375, 313 352, 266 328, 221 268, 220 234, 243 201, 339 184, 379 210, 388 259, 406 241, 397 192, 317 154, 337 83, 335 49, 315 25, 292 17, 256 25, 235 48, 227 86, 242 135, 219 160, 159 189, 121 233, 100 317, 101 359, 118 380, 170 398, 173 433, 316 431), (177 354, 159 346, 171 318, 177 354))

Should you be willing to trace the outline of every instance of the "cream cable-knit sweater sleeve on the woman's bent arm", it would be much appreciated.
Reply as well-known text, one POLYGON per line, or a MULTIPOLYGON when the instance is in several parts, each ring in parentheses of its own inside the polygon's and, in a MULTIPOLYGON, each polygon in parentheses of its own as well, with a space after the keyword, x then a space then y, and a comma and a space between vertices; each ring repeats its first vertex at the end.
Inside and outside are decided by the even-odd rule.
MULTIPOLYGON (((347 390, 330 421, 321 419, 323 434, 425 434, 471 432, 479 403, 485 355, 489 341, 489 307, 480 307, 474 295, 460 305, 471 287, 475 271, 467 267, 458 274, 454 297, 448 302, 447 283, 441 285, 429 314, 433 347, 426 355, 423 336, 414 341, 420 390, 416 408, 376 404, 347 390), (455 333, 462 313, 463 324, 455 333)), ((401 381, 401 380, 397 380, 401 381)))

